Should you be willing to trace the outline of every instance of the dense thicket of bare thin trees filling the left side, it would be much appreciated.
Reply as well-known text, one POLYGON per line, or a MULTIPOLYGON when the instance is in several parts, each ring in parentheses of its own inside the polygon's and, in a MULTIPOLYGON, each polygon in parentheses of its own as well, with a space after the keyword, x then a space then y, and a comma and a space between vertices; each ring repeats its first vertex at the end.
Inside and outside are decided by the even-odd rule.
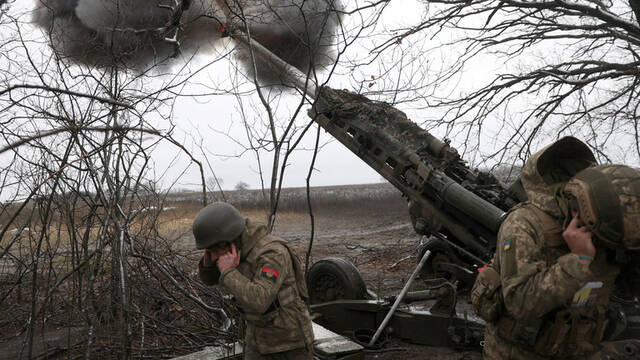
POLYGON ((194 254, 176 246, 183 234, 163 229, 170 200, 150 164, 159 142, 187 153, 206 204, 201 164, 172 137, 174 90, 190 74, 157 81, 162 69, 131 71, 117 57, 78 65, 29 22, 28 13, 0 18, 5 355, 42 356, 60 326, 55 347, 86 358, 160 357, 236 338, 229 305, 194 281, 194 254))

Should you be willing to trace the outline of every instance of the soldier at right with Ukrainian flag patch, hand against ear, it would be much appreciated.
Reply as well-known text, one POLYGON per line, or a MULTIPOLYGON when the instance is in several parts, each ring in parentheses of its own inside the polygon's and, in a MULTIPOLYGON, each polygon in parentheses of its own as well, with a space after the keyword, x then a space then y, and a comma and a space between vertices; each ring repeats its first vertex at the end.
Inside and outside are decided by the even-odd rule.
POLYGON ((625 266, 616 255, 640 250, 640 171, 594 164, 571 137, 525 164, 528 201, 507 215, 472 290, 487 321, 486 358, 640 357, 640 341, 603 343, 615 332, 607 308, 625 266))

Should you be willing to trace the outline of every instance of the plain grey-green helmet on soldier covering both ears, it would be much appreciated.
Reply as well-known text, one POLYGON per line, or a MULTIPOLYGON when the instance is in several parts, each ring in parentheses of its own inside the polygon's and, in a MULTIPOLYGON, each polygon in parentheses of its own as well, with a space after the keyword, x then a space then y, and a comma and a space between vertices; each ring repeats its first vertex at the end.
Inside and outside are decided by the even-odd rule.
POLYGON ((244 231, 245 219, 230 204, 215 202, 204 207, 193 219, 196 247, 206 249, 220 242, 231 242, 244 231))

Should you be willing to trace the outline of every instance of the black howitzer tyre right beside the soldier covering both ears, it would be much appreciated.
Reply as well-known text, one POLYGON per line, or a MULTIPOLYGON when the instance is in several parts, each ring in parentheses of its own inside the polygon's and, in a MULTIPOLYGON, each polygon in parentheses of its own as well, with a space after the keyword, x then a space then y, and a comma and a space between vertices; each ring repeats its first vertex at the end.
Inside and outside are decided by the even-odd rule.
POLYGON ((311 266, 307 273, 307 287, 311 304, 360 300, 367 292, 358 269, 351 262, 336 257, 322 259, 311 266))

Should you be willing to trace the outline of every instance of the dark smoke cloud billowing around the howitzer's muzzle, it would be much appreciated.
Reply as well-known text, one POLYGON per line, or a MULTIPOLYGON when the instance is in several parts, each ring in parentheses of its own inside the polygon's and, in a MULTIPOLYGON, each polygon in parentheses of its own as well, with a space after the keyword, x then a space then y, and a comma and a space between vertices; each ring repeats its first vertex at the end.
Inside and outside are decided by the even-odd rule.
MULTIPOLYGON (((142 70, 168 63, 177 49, 211 50, 226 24, 248 26, 255 40, 306 72, 332 62, 340 9, 332 0, 39 0, 34 13, 52 47, 79 64, 142 70), (179 48, 167 40, 174 36, 179 48)), ((253 73, 247 49, 237 44, 238 60, 253 73)), ((257 60, 261 82, 277 82, 257 60)))

